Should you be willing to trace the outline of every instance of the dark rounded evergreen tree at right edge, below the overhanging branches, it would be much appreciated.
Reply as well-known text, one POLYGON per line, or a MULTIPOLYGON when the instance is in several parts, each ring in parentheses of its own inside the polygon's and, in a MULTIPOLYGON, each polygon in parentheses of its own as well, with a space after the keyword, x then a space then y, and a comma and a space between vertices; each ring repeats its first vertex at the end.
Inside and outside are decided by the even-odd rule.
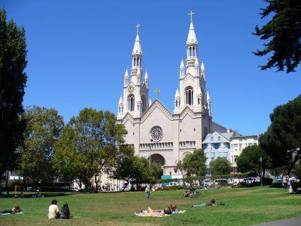
POLYGON ((271 168, 289 166, 289 175, 301 157, 301 95, 275 107, 270 119, 268 130, 259 137, 260 147, 271 158, 271 168))

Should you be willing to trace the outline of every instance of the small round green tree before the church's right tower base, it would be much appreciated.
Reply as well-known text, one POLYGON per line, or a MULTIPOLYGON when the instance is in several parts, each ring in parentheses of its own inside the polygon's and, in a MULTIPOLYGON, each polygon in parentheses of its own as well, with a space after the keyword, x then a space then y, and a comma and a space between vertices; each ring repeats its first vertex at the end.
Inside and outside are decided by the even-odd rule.
POLYGON ((177 164, 181 171, 186 171, 187 175, 206 175, 206 155, 202 149, 194 150, 186 155, 183 162, 177 164))

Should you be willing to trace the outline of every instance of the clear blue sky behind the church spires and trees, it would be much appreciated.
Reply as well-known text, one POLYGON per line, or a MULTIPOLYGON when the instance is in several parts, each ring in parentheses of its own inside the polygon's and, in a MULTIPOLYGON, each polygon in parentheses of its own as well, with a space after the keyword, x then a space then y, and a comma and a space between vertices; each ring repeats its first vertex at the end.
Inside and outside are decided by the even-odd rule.
POLYGON ((185 58, 190 10, 206 67, 213 120, 243 134, 266 130, 277 105, 301 93, 299 71, 286 75, 257 66, 264 1, 30 1, 0 0, 8 19, 26 29, 28 83, 24 105, 54 107, 64 120, 84 107, 117 112, 136 24, 141 24, 149 95, 173 111, 179 65, 185 58))

